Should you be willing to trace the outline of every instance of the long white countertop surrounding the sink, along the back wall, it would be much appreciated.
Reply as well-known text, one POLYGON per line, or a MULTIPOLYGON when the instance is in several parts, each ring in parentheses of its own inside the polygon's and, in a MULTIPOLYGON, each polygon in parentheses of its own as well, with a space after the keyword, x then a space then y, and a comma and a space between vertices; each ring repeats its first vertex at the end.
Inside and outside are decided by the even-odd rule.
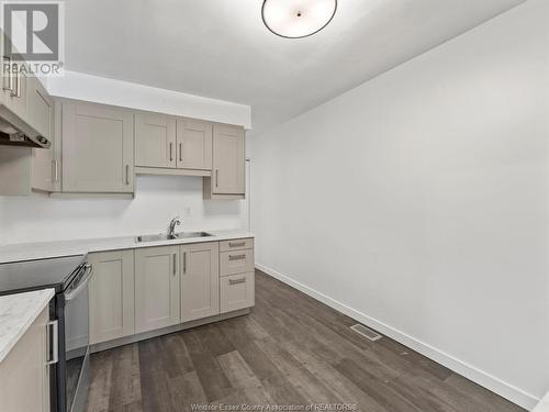
POLYGON ((20 260, 34 260, 52 257, 83 255, 93 252, 135 249, 141 247, 168 246, 187 243, 219 242, 229 241, 233 238, 255 237, 253 233, 238 230, 208 231, 208 233, 212 234, 213 236, 146 243, 136 243, 134 236, 125 236, 5 245, 0 246, 0 264, 20 260))

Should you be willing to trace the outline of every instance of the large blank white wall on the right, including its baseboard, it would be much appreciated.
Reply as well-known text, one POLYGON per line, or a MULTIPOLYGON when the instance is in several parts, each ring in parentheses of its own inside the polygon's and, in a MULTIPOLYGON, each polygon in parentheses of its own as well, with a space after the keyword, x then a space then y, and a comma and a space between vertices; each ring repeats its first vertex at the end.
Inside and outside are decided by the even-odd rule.
POLYGON ((548 60, 549 2, 530 0, 250 140, 259 267, 533 407, 548 60))

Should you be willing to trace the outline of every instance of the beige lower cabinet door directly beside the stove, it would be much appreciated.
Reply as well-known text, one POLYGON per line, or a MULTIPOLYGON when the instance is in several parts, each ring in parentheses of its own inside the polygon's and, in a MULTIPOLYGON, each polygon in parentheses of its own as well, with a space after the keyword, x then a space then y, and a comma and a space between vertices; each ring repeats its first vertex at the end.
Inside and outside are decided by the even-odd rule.
POLYGON ((134 334, 134 250, 90 254, 90 344, 134 334))

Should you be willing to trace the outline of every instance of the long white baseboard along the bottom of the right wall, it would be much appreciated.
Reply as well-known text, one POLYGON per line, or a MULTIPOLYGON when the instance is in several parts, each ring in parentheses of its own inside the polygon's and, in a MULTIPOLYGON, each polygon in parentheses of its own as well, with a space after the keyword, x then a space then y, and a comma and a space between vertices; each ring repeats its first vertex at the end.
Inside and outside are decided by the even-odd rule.
POLYGON ((534 397, 530 393, 525 392, 522 389, 518 389, 514 387, 513 385, 509 385, 495 376, 492 376, 490 374, 486 374, 485 371, 475 368, 472 365, 469 365, 460 359, 457 359, 456 357, 437 349, 436 347, 433 347, 422 341, 416 339, 413 336, 410 336, 381 321, 378 321, 377 319, 373 319, 371 316, 368 316, 367 314, 359 312, 352 308, 349 308, 348 305, 338 302, 337 300, 332 299, 330 297, 318 292, 317 290, 314 290, 306 285, 303 285, 296 280, 293 280, 292 278, 282 275, 267 266, 264 266, 261 264, 256 263, 256 268, 259 270, 266 272, 269 276, 272 276, 273 278, 302 291, 303 293, 309 294, 310 297, 327 304, 328 307, 335 309, 336 311, 339 311, 344 314, 346 314, 349 318, 352 318, 357 322, 360 322, 380 333, 382 333, 385 336, 391 337, 392 339, 418 352, 419 354, 428 357, 429 359, 435 360, 436 363, 444 365, 448 369, 455 371, 456 374, 459 374, 473 382, 491 390, 492 392, 497 393, 498 396, 509 400, 513 403, 516 403, 517 405, 525 408, 528 411, 531 411, 536 404, 540 401, 538 398, 534 397))

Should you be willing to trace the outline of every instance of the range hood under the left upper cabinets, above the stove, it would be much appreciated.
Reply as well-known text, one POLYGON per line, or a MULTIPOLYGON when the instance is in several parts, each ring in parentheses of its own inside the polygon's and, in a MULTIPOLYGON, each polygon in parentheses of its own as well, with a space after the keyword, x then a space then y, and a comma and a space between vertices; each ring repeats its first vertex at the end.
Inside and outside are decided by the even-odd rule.
POLYGON ((0 146, 49 148, 52 142, 8 110, 0 108, 0 146), (8 119, 7 119, 8 118, 8 119))

